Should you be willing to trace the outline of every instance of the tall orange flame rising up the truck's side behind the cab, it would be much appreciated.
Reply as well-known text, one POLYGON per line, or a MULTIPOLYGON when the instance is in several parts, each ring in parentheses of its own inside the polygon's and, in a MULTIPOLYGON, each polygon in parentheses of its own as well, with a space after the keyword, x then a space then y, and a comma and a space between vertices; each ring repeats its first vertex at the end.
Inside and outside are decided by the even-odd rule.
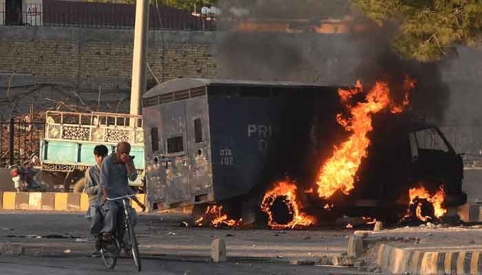
MULTIPOLYGON (((403 111, 408 104, 408 92, 415 87, 415 81, 406 78, 404 89, 406 89, 406 100, 401 107, 392 103, 395 112, 403 111), (405 103, 406 101, 406 103, 405 103)), ((363 87, 359 81, 353 89, 339 89, 338 94, 342 102, 350 111, 351 118, 343 118, 342 114, 337 115, 337 122, 352 135, 340 146, 335 146, 333 156, 322 166, 319 171, 316 184, 318 195, 322 198, 331 197, 337 190, 348 195, 355 188, 355 173, 367 155, 367 148, 370 140, 368 132, 372 131, 371 115, 378 113, 390 105, 390 89, 388 83, 377 82, 373 89, 366 95, 366 102, 358 102, 354 107, 348 104, 348 100, 355 94, 362 91, 363 87)))

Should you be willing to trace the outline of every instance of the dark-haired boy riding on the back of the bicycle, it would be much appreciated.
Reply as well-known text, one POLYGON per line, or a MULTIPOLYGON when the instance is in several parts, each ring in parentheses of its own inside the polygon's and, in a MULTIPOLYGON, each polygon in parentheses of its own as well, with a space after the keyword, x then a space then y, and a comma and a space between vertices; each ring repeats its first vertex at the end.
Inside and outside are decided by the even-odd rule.
POLYGON ((105 145, 97 145, 94 148, 94 159, 96 165, 87 168, 85 171, 85 192, 89 195, 89 209, 86 218, 90 221, 90 234, 96 239, 95 251, 92 256, 96 256, 101 250, 101 229, 103 226, 103 216, 99 209, 99 201, 102 195, 100 187, 101 164, 104 157, 109 153, 105 145))

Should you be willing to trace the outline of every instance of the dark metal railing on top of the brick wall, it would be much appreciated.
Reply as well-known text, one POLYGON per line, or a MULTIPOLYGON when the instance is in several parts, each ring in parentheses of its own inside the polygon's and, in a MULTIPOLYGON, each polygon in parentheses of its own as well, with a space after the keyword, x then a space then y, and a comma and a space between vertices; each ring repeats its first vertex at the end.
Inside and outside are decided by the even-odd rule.
MULTIPOLYGON (((135 6, 131 4, 43 0, 11 7, 0 2, 0 25, 132 29, 135 6)), ((193 16, 187 10, 151 5, 151 30, 215 30, 216 20, 193 16)))

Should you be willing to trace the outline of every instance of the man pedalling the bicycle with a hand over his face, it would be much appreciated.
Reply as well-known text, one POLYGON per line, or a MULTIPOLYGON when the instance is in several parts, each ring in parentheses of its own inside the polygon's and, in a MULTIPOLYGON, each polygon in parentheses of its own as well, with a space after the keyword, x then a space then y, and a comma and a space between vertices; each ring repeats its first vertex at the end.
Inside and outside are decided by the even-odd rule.
MULTIPOLYGON (((101 188, 103 197, 101 199, 101 211, 104 215, 104 224, 101 230, 104 241, 111 240, 111 234, 118 228, 118 221, 122 221, 120 215, 123 214, 122 200, 107 201, 107 198, 122 197, 132 195, 134 191, 129 187, 129 181, 136 180, 137 171, 134 166, 132 157, 129 155, 131 145, 128 142, 119 142, 116 152, 108 155, 102 162, 101 166, 101 188)), ((132 197, 134 201, 145 210, 145 206, 137 197, 132 197)), ((133 212, 133 223, 135 224, 135 216, 133 212)), ((119 234, 123 234, 123 230, 119 230, 119 234)), ((122 236, 121 236, 122 237, 122 236)))

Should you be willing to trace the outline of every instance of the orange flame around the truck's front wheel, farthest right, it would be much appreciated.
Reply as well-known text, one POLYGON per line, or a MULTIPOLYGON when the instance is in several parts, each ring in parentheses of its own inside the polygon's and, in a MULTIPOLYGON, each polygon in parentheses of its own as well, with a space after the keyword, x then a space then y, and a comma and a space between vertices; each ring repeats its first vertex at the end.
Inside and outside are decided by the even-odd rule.
MULTIPOLYGON (((415 203, 415 199, 418 197, 419 199, 426 199, 428 202, 432 203, 434 207, 434 215, 437 218, 440 218, 443 216, 443 214, 446 214, 447 209, 442 207, 443 200, 446 197, 446 192, 443 189, 443 186, 440 186, 439 190, 435 195, 430 195, 430 193, 423 187, 420 186, 419 188, 410 188, 408 190, 408 195, 410 197, 410 205, 413 205, 415 203)), ((417 215, 417 218, 420 219, 421 221, 427 221, 428 219, 431 219, 431 217, 428 216, 422 216, 421 214, 421 203, 418 203, 417 208, 415 210, 415 214, 417 215)))

